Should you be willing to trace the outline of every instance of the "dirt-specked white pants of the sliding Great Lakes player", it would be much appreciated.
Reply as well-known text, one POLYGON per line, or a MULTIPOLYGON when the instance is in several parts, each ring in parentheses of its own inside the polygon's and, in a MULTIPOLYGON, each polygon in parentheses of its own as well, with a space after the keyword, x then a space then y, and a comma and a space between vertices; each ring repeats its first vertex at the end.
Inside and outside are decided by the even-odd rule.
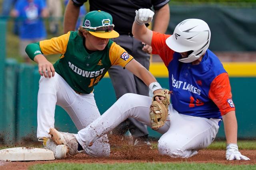
MULTIPOLYGON (((102 116, 86 128, 80 130, 76 139, 86 149, 91 142, 108 133, 128 117, 151 127, 149 107, 152 98, 138 94, 124 94, 102 116)), ((160 154, 172 157, 188 158, 197 154, 199 149, 208 147, 218 133, 220 119, 206 119, 179 114, 172 105, 169 117, 158 132, 162 137, 158 141, 160 154)), ((93 144, 94 145, 94 144, 93 144)), ((92 146, 93 146, 92 145, 92 146)))

